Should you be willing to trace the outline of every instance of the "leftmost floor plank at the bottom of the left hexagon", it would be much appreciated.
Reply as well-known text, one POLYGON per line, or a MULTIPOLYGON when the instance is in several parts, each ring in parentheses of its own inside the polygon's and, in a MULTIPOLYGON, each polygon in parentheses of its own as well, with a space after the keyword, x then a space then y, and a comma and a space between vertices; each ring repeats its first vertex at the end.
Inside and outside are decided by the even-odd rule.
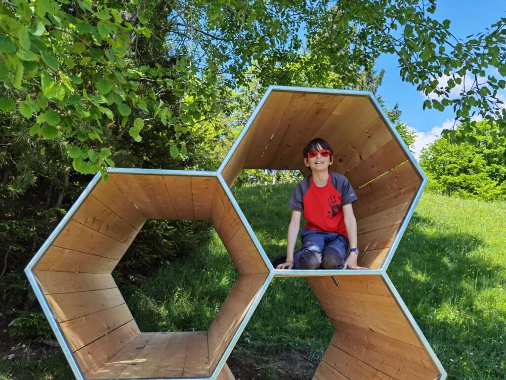
POLYGON ((89 378, 116 378, 141 353, 154 334, 141 332, 89 378))

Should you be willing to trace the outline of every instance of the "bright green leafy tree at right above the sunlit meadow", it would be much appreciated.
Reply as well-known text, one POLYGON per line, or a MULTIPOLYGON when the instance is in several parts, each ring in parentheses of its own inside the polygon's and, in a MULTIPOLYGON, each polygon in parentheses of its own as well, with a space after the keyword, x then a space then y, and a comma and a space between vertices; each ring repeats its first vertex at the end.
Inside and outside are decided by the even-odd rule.
MULTIPOLYGON (((496 143, 490 133, 496 125, 482 121, 476 124, 478 143, 451 144, 441 137, 422 150, 420 165, 429 177, 429 191, 461 198, 482 198, 487 201, 506 197, 506 168, 501 155, 506 144, 496 143)), ((458 128, 458 137, 465 128, 458 128)))

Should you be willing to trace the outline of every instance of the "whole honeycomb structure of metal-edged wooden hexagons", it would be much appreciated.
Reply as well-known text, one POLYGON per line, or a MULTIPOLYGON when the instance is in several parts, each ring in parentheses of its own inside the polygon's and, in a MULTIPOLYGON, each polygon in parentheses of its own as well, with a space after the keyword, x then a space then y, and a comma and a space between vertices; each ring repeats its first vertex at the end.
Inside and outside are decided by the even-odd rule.
POLYGON ((386 273, 426 177, 372 94, 270 87, 217 172, 109 178, 94 178, 26 269, 76 378, 234 379, 226 360, 274 276, 306 277, 335 328, 315 379, 445 378, 386 273), (314 137, 355 188, 368 270, 274 270, 230 192, 245 168, 305 173, 314 137), (207 331, 141 332, 126 306, 111 272, 147 219, 208 219, 227 249, 240 276, 207 331))

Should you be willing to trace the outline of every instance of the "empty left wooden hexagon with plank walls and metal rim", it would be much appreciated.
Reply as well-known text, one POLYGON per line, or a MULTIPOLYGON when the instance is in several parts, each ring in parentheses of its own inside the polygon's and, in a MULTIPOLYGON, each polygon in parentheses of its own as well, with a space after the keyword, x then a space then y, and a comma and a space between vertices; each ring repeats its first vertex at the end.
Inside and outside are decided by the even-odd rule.
MULTIPOLYGON (((80 378, 208 378, 270 281, 228 188, 199 172, 113 170, 83 193, 37 254, 37 296, 80 378), (147 219, 208 219, 239 278, 207 331, 141 332, 111 272, 147 219)), ((224 373, 227 368, 225 366, 224 373)))

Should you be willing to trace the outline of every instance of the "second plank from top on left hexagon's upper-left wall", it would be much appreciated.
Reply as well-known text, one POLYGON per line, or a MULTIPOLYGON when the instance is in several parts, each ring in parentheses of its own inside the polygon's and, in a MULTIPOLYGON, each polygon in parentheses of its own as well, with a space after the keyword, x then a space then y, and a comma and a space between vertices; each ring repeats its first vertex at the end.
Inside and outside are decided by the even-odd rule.
POLYGON ((72 216, 72 220, 126 245, 130 245, 139 233, 139 230, 136 230, 93 196, 88 197, 83 202, 72 216))

